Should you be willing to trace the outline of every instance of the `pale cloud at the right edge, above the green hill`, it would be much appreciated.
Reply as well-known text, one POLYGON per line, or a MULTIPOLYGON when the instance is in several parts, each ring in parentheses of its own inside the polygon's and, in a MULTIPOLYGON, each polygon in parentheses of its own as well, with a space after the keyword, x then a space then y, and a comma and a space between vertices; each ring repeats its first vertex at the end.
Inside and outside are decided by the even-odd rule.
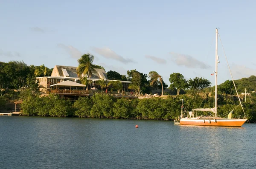
POLYGON ((232 65, 231 72, 234 79, 241 79, 243 77, 256 76, 256 69, 248 68, 245 65, 232 65))

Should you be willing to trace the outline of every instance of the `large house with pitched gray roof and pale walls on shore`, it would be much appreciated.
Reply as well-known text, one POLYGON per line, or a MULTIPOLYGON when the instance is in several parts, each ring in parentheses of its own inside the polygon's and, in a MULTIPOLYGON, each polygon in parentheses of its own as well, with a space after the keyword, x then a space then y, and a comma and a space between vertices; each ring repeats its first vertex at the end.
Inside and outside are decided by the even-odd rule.
MULTIPOLYGON (((116 80, 108 80, 107 73, 103 69, 94 69, 95 72, 92 73, 90 80, 92 81, 92 85, 95 85, 95 82, 101 79, 109 81, 116 81, 116 80)), ((87 78, 88 76, 85 75, 87 78)), ((55 65, 52 70, 51 76, 44 76, 44 77, 36 77, 39 82, 39 88, 51 88, 51 85, 64 82, 66 80, 70 80, 72 82, 80 82, 80 78, 76 73, 76 67, 73 66, 61 66, 55 65)), ((88 78, 89 80, 89 78, 88 78)), ((128 88, 128 84, 131 83, 130 81, 120 81, 122 82, 125 88, 128 88)))

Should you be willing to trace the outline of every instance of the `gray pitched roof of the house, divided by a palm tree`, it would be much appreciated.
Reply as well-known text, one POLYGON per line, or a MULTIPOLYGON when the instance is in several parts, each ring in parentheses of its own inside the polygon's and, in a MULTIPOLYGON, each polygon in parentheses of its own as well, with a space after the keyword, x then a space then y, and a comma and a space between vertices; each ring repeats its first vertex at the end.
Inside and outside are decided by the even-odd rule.
MULTIPOLYGON (((60 75, 60 77, 75 77, 78 78, 78 75, 76 73, 76 68, 73 66, 61 66, 56 65, 57 71, 60 75)), ((108 79, 107 73, 103 69, 94 69, 95 71, 92 72, 91 79, 108 79)))

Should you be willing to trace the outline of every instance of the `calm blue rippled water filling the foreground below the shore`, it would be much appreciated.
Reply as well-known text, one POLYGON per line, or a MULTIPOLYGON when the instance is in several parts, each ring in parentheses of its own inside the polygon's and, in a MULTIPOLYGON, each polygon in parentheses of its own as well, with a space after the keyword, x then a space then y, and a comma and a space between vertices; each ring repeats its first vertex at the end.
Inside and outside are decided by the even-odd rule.
POLYGON ((250 169, 255 137, 256 124, 0 116, 0 168, 250 169))

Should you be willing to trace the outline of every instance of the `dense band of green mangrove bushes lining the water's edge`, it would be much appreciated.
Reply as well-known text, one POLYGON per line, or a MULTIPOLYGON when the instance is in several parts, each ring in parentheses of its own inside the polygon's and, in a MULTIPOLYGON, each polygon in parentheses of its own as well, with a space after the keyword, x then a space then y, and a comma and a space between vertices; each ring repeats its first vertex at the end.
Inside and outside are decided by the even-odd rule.
MULTIPOLYGON (((92 97, 79 97, 71 102, 54 94, 39 97, 32 90, 26 90, 23 91, 23 98, 22 115, 29 116, 173 120, 180 115, 180 99, 184 100, 187 111, 193 107, 214 107, 213 98, 203 99, 199 95, 169 96, 166 99, 116 99, 108 94, 97 93, 92 97)), ((243 103, 243 106, 247 117, 255 120, 253 109, 256 107, 247 103, 243 103)), ((226 117, 228 111, 234 107, 233 104, 225 104, 218 107, 218 113, 226 117)), ((206 112, 201 115, 206 115, 204 113, 206 112)), ((233 114, 237 117, 242 115, 239 109, 234 110, 233 114)))

